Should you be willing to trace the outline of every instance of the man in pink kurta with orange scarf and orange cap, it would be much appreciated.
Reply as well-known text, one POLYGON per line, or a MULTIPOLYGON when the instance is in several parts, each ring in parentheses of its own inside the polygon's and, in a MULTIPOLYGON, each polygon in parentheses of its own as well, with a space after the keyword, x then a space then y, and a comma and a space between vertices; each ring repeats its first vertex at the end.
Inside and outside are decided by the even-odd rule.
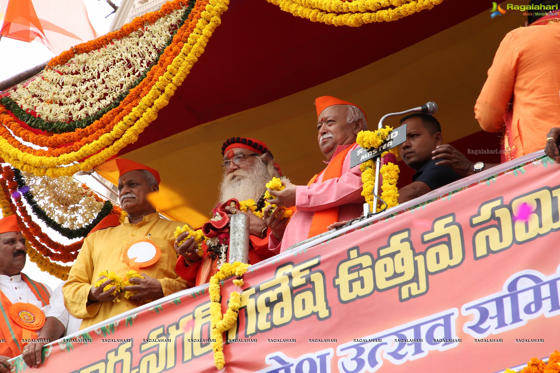
MULTIPOLYGON (((367 129, 366 116, 353 103, 331 96, 317 98, 315 105, 319 148, 328 166, 307 186, 283 181, 283 190, 269 190, 276 197, 268 200, 271 204, 296 207, 282 237, 269 236, 269 249, 274 253, 284 252, 295 243, 326 232, 335 221, 358 218, 363 211, 362 173, 360 166, 350 168, 350 155, 358 146, 356 135, 367 129)), ((268 210, 270 207, 265 209, 268 210)), ((281 224, 277 220, 282 214, 276 218, 276 213, 264 215, 271 228, 281 224)))

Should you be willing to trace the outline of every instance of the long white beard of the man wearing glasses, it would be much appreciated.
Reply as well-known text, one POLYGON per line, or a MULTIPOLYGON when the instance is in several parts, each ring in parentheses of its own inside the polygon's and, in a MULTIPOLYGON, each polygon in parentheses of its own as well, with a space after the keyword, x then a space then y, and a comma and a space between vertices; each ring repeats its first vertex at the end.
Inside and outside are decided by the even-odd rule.
POLYGON ((257 161, 249 169, 236 169, 224 174, 220 183, 220 200, 225 202, 230 198, 237 201, 253 199, 255 202, 266 190, 266 183, 271 176, 267 172, 267 166, 257 161))

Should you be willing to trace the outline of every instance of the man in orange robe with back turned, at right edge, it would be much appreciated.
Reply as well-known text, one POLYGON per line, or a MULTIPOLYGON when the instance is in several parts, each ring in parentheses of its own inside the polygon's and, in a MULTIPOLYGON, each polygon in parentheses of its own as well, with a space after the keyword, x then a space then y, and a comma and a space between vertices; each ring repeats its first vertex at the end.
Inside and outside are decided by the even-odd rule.
POLYGON ((505 131, 502 160, 544 149, 560 118, 560 16, 529 17, 503 38, 474 107, 483 130, 505 131))

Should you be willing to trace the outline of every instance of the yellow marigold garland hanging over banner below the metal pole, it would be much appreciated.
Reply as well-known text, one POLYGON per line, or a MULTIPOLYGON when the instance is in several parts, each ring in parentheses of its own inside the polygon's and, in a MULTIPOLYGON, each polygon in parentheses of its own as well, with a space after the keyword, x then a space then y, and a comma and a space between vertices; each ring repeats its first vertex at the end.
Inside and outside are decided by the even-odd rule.
POLYGON ((243 286, 241 276, 247 272, 248 267, 249 265, 246 263, 224 263, 220 267, 220 271, 216 272, 216 274, 210 278, 210 285, 208 287, 208 293, 211 301, 210 338, 216 340, 216 342, 212 343, 212 350, 214 351, 214 365, 216 365, 217 369, 223 369, 223 366, 226 363, 225 358, 223 357, 223 332, 234 326, 237 320, 237 315, 239 314, 239 307, 241 306, 241 294, 237 291, 232 291, 227 311, 224 315, 222 315, 222 305, 220 303, 220 281, 235 275, 235 286, 243 286))

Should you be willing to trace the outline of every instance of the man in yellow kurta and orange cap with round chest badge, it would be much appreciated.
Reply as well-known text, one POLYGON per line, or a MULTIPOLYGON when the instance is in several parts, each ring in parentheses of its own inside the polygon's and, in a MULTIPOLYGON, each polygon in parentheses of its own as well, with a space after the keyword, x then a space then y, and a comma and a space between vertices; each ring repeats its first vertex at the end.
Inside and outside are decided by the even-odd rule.
POLYGON ((147 198, 148 193, 159 190, 159 173, 127 159, 117 159, 116 164, 119 168, 119 200, 128 216, 124 223, 98 230, 84 239, 63 286, 66 308, 74 317, 83 319, 81 329, 136 308, 144 301, 156 300, 187 287, 186 281, 175 274, 177 253, 173 247, 173 232, 176 226, 185 223, 160 218, 147 198), (142 241, 146 244, 132 248, 133 244, 142 241), (157 249, 153 248, 160 249, 159 258, 157 249), (124 290, 137 293, 129 299, 125 299, 123 293, 111 295, 114 286, 103 291, 110 280, 99 287, 94 286, 102 271, 113 271, 124 277, 130 269, 138 268, 138 263, 142 266, 138 272, 145 278, 130 278, 129 281, 136 285, 124 290), (113 302, 115 298, 120 302, 113 302))

